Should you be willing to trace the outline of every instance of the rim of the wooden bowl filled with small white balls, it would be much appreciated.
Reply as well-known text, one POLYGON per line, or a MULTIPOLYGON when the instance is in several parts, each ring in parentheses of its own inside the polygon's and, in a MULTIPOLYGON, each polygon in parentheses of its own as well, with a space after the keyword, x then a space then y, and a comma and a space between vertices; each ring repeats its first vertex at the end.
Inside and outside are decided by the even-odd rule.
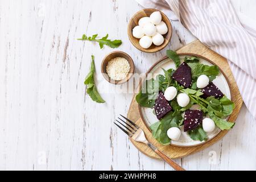
MULTIPOLYGON (((163 18, 162 18, 162 20, 163 20, 163 18)), ((168 26, 168 25, 167 25, 167 26, 168 26)), ((171 38, 172 38, 172 24, 171 24, 171 22, 170 22, 170 19, 166 16, 166 14, 163 13, 163 11, 160 11, 160 10, 158 10, 158 9, 143 9, 143 10, 137 11, 137 13, 135 13, 135 14, 131 17, 131 19, 130 19, 130 21, 129 21, 129 23, 128 23, 128 26, 127 26, 127 32, 128 32, 129 40, 130 40, 131 44, 133 44, 133 46, 134 46, 135 48, 139 49, 139 51, 142 51, 142 52, 146 52, 146 53, 155 53, 155 52, 159 52, 159 51, 161 51, 162 49, 166 48, 166 46, 170 43, 171 38), (168 30, 167 34, 165 34, 165 36, 164 36, 164 39, 166 39, 166 36, 167 36, 167 35, 170 35, 170 38, 167 39, 168 41, 167 41, 166 43, 163 43, 163 44, 160 45, 160 46, 156 46, 156 47, 154 48, 155 51, 152 51, 152 48, 151 48, 151 49, 150 49, 150 48, 144 49, 144 48, 142 48, 141 46, 137 46, 137 45, 135 45, 135 44, 133 43, 133 40, 132 40, 132 39, 136 39, 136 40, 139 42, 139 39, 133 37, 133 28, 131 27, 131 22, 132 22, 132 20, 134 19, 135 16, 137 16, 139 13, 143 12, 144 10, 150 10, 150 11, 153 11, 153 12, 159 11, 159 12, 161 13, 161 15, 164 16, 164 17, 167 19, 167 22, 164 22, 164 23, 168 24, 168 25, 171 27, 171 28, 170 28, 171 30, 168 30), (130 34, 129 34, 129 32, 130 32, 130 34), (150 51, 150 50, 151 50, 151 51, 150 51)))

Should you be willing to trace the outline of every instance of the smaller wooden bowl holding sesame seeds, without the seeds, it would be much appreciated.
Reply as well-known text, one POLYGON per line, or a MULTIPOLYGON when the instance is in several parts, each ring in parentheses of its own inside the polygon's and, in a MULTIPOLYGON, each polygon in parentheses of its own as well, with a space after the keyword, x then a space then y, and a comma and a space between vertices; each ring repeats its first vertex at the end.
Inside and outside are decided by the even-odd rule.
POLYGON ((122 51, 114 51, 109 53, 108 55, 106 55, 102 61, 101 64, 101 73, 103 75, 103 77, 110 83, 112 84, 123 84, 125 82, 127 82, 128 80, 130 80, 131 76, 133 76, 134 73, 134 62, 133 59, 131 59, 131 57, 129 55, 127 55, 127 53, 122 52, 122 51), (130 72, 129 75, 127 75, 126 78, 124 78, 123 80, 113 80, 108 76, 108 73, 106 72, 106 67, 109 63, 109 61, 111 61, 112 59, 114 59, 115 57, 123 57, 125 58, 129 64, 130 64, 130 72))

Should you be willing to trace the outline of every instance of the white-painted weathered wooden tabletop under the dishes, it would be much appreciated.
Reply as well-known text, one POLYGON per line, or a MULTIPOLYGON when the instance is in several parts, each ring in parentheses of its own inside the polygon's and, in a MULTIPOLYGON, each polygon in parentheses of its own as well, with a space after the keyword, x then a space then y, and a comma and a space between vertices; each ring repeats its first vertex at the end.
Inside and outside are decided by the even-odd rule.
MULTIPOLYGON (((243 2, 236 9, 249 12, 249 1, 243 2)), ((115 117, 127 113, 132 94, 102 93, 106 104, 85 94, 90 55, 102 80, 101 61, 114 50, 77 41, 84 33, 122 39, 118 50, 133 57, 137 73, 146 72, 166 49, 195 40, 172 22, 170 46, 152 54, 138 51, 126 27, 140 9, 125 0, 0 0, 0 169, 172 170, 141 154, 114 126, 115 117)), ((117 86, 98 81, 98 88, 117 86)), ((176 162, 189 170, 256 169, 255 130, 243 106, 224 139, 176 162)))

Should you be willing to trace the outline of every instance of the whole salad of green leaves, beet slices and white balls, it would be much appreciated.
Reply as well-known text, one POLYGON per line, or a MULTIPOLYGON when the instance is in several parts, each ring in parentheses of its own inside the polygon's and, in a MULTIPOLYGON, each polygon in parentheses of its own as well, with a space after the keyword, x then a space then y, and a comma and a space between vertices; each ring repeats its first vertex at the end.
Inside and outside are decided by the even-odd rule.
POLYGON ((150 126, 153 137, 167 145, 179 140, 181 128, 190 138, 200 141, 207 140, 208 133, 216 127, 232 129, 234 123, 226 118, 232 114, 234 103, 212 82, 220 73, 218 67, 201 64, 194 56, 180 60, 171 50, 167 56, 174 61, 176 70, 163 69, 163 75, 144 81, 136 96, 138 104, 151 108, 159 119, 150 126))

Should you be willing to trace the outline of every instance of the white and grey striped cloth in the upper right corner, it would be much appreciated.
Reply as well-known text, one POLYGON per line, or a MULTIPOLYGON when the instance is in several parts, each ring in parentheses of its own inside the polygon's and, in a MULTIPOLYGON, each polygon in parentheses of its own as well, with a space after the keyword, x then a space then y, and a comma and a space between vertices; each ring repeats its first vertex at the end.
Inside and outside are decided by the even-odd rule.
MULTIPOLYGON (((137 0, 164 11, 228 59, 243 101, 256 118, 256 25, 241 22, 230 0, 137 0)), ((246 19, 245 19, 246 20, 246 19)))

